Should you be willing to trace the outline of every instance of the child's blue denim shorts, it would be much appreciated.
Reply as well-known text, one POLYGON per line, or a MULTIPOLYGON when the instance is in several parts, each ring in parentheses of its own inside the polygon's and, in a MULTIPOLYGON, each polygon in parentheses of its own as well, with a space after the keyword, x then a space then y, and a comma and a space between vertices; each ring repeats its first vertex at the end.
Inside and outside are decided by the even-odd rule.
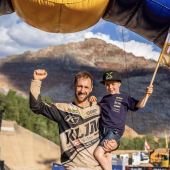
POLYGON ((100 138, 100 143, 99 146, 104 146, 104 141, 105 140, 111 140, 114 139, 117 144, 120 144, 120 138, 121 135, 118 133, 116 129, 110 129, 110 128, 102 128, 99 130, 99 138, 100 138))

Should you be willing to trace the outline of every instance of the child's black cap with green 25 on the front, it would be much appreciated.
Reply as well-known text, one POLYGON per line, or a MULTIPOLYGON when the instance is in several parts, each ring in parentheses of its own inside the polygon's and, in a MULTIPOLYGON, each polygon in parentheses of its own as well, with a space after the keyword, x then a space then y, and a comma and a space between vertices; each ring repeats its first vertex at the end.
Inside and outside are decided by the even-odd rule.
POLYGON ((103 74, 103 80, 100 83, 105 84, 105 81, 118 81, 121 82, 121 75, 116 71, 106 71, 103 74))

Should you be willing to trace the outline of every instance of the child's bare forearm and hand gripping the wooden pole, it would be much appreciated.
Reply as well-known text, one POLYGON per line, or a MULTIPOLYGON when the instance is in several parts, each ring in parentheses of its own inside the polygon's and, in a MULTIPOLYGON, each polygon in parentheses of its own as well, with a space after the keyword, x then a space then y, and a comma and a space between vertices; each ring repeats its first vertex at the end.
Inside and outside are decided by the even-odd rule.
POLYGON ((145 93, 145 95, 139 100, 139 102, 137 103, 136 107, 137 107, 137 108, 143 108, 143 107, 145 107, 146 102, 147 102, 148 98, 150 97, 150 95, 152 94, 152 92, 153 92, 153 85, 148 86, 148 87, 146 88, 146 93, 145 93))

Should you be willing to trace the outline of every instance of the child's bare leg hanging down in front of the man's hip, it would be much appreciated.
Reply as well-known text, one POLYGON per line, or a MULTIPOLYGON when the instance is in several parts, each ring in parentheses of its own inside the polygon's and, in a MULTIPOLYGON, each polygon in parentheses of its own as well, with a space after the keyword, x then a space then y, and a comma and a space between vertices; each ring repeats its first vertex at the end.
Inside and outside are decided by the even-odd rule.
POLYGON ((102 146, 98 146, 94 151, 94 156, 100 163, 103 170, 112 170, 112 157, 110 153, 105 153, 102 146))

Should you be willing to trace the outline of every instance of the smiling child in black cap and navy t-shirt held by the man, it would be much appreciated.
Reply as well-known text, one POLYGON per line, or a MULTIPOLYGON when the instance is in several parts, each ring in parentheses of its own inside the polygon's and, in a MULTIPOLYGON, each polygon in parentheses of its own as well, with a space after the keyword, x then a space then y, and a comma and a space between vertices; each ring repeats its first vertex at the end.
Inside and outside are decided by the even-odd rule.
POLYGON ((99 121, 100 143, 94 151, 94 156, 103 170, 112 170, 111 153, 104 150, 104 142, 112 140, 115 144, 113 150, 118 148, 120 138, 125 130, 128 110, 136 111, 143 108, 146 100, 153 92, 153 86, 147 87, 145 96, 138 101, 127 94, 120 93, 121 76, 118 72, 105 72, 101 83, 105 85, 109 94, 104 96, 99 103, 101 107, 99 121))

